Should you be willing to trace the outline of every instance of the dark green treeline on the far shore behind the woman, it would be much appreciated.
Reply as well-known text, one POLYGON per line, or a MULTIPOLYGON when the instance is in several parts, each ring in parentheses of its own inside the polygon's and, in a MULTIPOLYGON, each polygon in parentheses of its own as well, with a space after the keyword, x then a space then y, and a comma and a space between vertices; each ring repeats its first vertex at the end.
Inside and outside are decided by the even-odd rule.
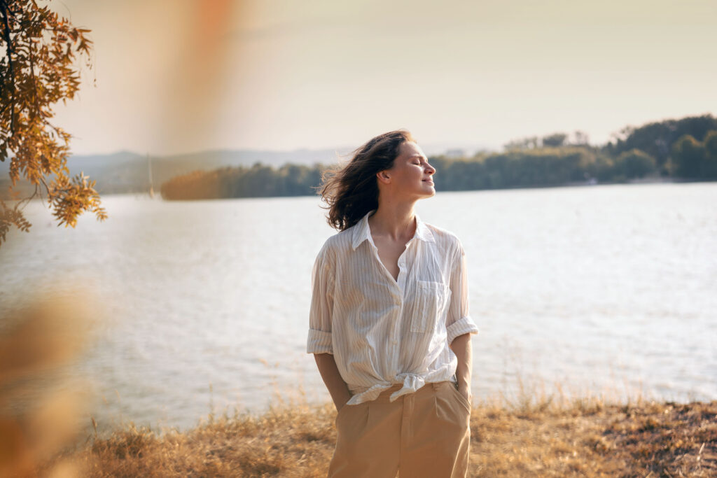
MULTIPOLYGON (((574 183, 619 183, 654 177, 717 180, 717 118, 693 116, 623 128, 606 145, 576 132, 521 138, 501 153, 429 158, 439 191, 470 191, 574 183)), ((315 194, 329 166, 287 164, 227 167, 176 176, 161 186, 164 199, 225 199, 315 194)))

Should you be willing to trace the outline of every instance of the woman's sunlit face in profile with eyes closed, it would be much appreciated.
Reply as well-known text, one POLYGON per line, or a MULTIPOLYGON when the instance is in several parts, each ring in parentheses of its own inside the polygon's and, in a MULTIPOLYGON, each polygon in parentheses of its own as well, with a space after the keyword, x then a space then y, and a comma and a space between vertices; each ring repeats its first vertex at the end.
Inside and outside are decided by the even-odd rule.
POLYGON ((422 199, 435 195, 436 189, 433 184, 435 172, 435 168, 428 163, 428 158, 419 145, 412 141, 401 145, 394 166, 381 171, 390 180, 388 183, 382 182, 390 187, 391 193, 406 199, 422 199))

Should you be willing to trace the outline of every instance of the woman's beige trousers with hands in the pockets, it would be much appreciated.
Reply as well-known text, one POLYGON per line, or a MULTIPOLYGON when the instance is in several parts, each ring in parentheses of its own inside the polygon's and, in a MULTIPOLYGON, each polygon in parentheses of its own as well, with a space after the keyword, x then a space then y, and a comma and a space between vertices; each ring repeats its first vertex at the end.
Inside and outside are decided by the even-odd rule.
POLYGON ((330 478, 466 477, 470 404, 452 382, 427 383, 389 401, 393 386, 374 401, 346 405, 336 416, 330 478))

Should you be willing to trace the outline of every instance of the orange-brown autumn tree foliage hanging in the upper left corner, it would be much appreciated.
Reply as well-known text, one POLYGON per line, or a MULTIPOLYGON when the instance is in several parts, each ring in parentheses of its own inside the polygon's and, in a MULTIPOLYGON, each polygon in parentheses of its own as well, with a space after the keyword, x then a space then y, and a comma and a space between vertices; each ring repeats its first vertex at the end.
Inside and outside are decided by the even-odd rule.
POLYGON ((107 217, 95 182, 82 173, 69 176, 72 135, 50 123, 52 107, 72 100, 80 88, 76 60, 92 67, 88 32, 35 0, 0 0, 0 161, 10 161, 16 201, 0 201, 0 244, 11 226, 29 230, 22 208, 37 196, 47 196, 58 226, 74 227, 84 211, 107 217), (23 180, 34 191, 20 198, 15 188, 23 180))

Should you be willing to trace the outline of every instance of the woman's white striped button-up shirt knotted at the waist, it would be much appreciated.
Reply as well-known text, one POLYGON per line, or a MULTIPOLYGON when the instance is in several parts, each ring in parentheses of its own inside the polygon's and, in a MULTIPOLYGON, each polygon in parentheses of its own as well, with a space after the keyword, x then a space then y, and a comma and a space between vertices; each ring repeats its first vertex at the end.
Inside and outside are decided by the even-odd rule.
POLYGON ((379 259, 369 212, 323 244, 313 267, 308 353, 332 353, 353 393, 374 400, 395 383, 391 401, 425 383, 453 380, 449 344, 478 333, 468 315, 465 252, 454 234, 416 216, 416 233, 394 279, 379 259))

